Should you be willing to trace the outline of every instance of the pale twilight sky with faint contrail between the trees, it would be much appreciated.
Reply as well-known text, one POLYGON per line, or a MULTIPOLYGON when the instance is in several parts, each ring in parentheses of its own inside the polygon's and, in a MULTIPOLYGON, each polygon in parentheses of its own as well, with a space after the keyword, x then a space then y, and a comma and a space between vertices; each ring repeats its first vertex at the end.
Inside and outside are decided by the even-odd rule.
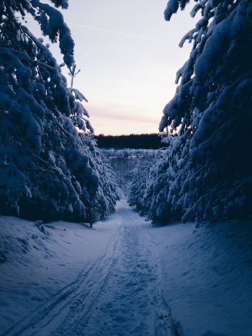
MULTIPOLYGON (((74 87, 89 100, 85 107, 95 134, 158 132, 163 108, 175 93, 175 74, 191 50, 188 43, 183 48, 178 43, 194 28, 188 9, 166 22, 166 4, 69 0, 69 9, 62 11, 81 69, 74 87)), ((60 63, 58 48, 50 48, 60 63)))

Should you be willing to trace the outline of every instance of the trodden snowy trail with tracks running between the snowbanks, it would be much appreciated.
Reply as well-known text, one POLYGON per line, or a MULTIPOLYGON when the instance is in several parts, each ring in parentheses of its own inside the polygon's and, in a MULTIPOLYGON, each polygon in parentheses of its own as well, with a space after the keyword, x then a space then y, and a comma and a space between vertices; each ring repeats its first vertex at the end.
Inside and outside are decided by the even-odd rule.
POLYGON ((176 335, 143 219, 124 199, 116 216, 105 255, 3 335, 176 335))

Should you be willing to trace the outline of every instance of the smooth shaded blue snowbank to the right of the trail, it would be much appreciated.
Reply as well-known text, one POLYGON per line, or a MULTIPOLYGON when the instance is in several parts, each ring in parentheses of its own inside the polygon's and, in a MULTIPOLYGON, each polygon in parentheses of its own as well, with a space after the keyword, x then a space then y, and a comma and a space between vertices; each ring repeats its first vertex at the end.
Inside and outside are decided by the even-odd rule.
POLYGON ((145 224, 160 253, 165 300, 184 336, 251 335, 251 224, 145 224))

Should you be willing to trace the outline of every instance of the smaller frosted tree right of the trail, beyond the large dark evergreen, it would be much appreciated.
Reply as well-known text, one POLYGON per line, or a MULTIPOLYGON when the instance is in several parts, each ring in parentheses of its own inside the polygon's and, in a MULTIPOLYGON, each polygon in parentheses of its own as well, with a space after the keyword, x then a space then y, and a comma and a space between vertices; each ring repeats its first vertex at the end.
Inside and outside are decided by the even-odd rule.
POLYGON ((169 190, 177 176, 177 137, 170 137, 170 146, 159 150, 155 162, 139 169, 132 183, 129 202, 140 215, 144 215, 154 224, 167 224, 181 218, 181 209, 172 209, 172 199, 168 199, 169 190))

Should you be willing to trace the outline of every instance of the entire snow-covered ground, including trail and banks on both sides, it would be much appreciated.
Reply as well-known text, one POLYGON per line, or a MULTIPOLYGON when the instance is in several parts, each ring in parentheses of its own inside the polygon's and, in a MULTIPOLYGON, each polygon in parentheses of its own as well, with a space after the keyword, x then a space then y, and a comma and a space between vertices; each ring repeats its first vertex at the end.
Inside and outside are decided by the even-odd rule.
POLYGON ((250 228, 153 228, 124 199, 92 230, 2 216, 0 334, 249 336, 250 228))

